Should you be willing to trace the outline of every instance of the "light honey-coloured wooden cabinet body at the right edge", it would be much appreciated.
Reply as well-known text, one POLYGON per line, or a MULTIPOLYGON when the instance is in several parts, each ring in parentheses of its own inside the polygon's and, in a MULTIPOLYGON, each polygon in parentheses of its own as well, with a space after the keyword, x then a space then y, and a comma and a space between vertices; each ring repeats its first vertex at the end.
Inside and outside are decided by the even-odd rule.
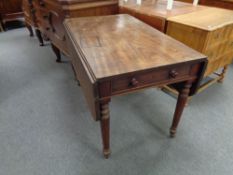
POLYGON ((208 56, 205 76, 232 62, 232 11, 208 8, 171 17, 168 19, 167 34, 208 56))

